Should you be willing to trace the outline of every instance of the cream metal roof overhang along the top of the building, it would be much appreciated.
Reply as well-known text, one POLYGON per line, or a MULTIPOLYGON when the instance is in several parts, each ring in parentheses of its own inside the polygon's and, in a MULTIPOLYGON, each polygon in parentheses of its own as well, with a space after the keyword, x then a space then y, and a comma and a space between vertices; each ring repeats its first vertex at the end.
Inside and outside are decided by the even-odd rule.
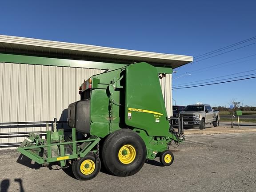
POLYGON ((144 61, 155 66, 169 68, 177 68, 193 61, 192 56, 108 48, 5 35, 0 35, 0 52, 119 64, 144 61))

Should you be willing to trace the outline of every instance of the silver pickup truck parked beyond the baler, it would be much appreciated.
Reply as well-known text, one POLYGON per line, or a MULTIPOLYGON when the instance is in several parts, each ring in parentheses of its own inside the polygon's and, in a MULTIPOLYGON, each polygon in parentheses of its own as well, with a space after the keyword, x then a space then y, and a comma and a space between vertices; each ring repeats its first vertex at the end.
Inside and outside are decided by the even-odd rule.
POLYGON ((183 116, 184 128, 198 127, 205 129, 205 124, 213 124, 214 127, 219 126, 220 113, 213 111, 208 104, 188 105, 180 112, 183 116))

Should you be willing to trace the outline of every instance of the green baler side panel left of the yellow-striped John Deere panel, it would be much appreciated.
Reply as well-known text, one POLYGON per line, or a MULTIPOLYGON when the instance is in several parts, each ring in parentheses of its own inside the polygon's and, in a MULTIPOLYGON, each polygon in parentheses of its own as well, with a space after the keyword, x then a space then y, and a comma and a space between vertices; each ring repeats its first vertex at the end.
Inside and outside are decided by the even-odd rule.
POLYGON ((118 80, 123 73, 122 69, 117 69, 92 76, 91 135, 105 137, 115 130, 125 128, 124 89, 116 89, 112 95, 109 92, 109 84, 118 80), (112 108, 110 97, 114 102, 112 108))

